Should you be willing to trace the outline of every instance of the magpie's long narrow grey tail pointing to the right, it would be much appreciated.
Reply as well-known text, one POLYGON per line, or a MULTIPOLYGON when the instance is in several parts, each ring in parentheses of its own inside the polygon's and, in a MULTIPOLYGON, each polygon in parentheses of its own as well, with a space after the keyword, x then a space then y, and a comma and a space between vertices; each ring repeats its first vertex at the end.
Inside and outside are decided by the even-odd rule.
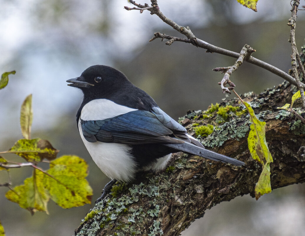
POLYGON ((230 163, 235 166, 242 166, 245 163, 239 160, 236 160, 234 158, 224 156, 221 154, 218 154, 216 152, 212 152, 210 150, 207 150, 205 148, 198 147, 196 145, 193 145, 191 143, 181 143, 181 144, 163 144, 164 146, 176 149, 178 151, 182 152, 188 152, 190 154, 196 155, 196 156, 201 156, 213 161, 221 161, 223 163, 230 163))

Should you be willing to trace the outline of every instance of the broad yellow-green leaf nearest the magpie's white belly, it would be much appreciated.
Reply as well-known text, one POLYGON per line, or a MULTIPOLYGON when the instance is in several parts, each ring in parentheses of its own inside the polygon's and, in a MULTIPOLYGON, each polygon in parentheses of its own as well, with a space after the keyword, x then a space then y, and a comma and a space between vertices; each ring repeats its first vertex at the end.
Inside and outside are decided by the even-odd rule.
POLYGON ((92 188, 85 177, 88 175, 87 163, 78 156, 62 156, 51 162, 47 172, 55 177, 45 178, 45 187, 51 199, 62 208, 83 206, 91 203, 92 188))

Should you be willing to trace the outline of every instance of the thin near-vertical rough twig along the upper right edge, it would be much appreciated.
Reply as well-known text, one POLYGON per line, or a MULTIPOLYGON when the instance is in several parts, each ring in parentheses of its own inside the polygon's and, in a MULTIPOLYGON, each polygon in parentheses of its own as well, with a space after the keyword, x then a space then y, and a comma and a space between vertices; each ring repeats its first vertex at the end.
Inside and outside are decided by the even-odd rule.
MULTIPOLYGON (((302 107, 303 109, 305 109, 305 96, 304 96, 304 89, 303 86, 301 84, 299 75, 298 75, 298 66, 297 66, 297 55, 300 58, 298 49, 296 47, 296 38, 295 38, 295 33, 296 33, 296 13, 298 11, 298 6, 300 4, 300 1, 295 0, 293 1, 292 4, 292 9, 291 9, 291 18, 289 19, 287 25, 290 26, 290 37, 289 37, 289 42, 291 43, 291 49, 292 49, 292 53, 291 53, 291 67, 292 67, 292 72, 293 75, 296 79, 296 85, 299 88, 300 92, 301 92, 301 102, 302 102, 302 107)), ((301 59, 300 59, 301 61, 301 59)), ((300 63, 300 67, 303 67, 302 63, 300 63)), ((302 69, 301 69, 302 70, 302 69)), ((304 70, 304 68, 303 68, 304 70)), ((303 71, 302 71, 303 73, 303 71)), ((304 74, 303 74, 304 75, 304 74)))

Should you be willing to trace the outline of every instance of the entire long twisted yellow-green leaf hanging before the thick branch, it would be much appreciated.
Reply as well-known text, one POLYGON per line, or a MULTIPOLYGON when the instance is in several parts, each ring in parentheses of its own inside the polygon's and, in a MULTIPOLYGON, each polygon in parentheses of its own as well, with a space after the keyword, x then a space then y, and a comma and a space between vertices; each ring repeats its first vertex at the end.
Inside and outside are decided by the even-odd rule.
POLYGON ((258 199, 261 195, 271 192, 269 163, 272 163, 273 159, 265 137, 266 122, 258 120, 252 107, 246 102, 244 102, 244 104, 246 105, 253 123, 250 125, 248 148, 252 158, 263 165, 263 171, 260 174, 259 180, 255 187, 255 198, 258 199))

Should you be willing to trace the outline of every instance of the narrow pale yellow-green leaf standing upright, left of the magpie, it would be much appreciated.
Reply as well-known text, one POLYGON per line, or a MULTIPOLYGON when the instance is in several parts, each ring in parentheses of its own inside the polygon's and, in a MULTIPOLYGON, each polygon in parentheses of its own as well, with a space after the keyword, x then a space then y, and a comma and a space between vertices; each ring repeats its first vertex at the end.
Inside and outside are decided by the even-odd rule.
POLYGON ((33 120, 32 95, 28 95, 21 105, 20 126, 24 138, 30 139, 33 120))

